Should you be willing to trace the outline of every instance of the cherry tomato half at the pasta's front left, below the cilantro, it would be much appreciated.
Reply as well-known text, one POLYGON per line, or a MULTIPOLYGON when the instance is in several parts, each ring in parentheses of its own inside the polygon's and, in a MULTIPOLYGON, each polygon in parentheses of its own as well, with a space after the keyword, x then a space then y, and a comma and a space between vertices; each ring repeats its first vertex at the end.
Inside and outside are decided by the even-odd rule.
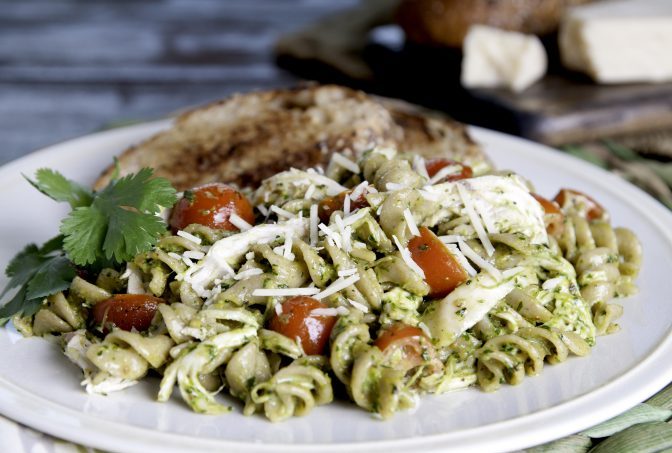
POLYGON ((115 294, 93 307, 93 319, 104 329, 114 325, 122 330, 143 331, 156 314, 163 299, 148 294, 115 294))

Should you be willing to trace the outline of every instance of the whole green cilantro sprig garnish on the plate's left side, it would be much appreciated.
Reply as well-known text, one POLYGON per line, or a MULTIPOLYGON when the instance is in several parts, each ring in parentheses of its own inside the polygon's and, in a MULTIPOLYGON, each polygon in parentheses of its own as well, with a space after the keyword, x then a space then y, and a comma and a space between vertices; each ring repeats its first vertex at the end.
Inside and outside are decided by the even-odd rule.
POLYGON ((69 287, 77 266, 99 269, 150 250, 167 227, 156 214, 177 201, 170 182, 153 177, 149 168, 115 178, 100 192, 50 169, 26 179, 53 200, 70 204, 72 211, 61 221, 60 236, 42 247, 27 245, 7 266, 10 280, 0 293, 0 325, 15 314, 36 313, 46 296, 69 287))

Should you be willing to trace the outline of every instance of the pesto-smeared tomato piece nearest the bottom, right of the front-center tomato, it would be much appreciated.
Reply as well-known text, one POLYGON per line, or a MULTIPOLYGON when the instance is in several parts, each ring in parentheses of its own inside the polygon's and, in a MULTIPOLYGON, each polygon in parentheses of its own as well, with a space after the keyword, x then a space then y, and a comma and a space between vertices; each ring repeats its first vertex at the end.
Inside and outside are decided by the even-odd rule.
POLYGON ((425 333, 413 326, 404 323, 396 323, 383 330, 373 343, 381 351, 390 353, 400 349, 403 353, 401 367, 411 369, 421 365, 424 352, 434 356, 434 349, 425 333))

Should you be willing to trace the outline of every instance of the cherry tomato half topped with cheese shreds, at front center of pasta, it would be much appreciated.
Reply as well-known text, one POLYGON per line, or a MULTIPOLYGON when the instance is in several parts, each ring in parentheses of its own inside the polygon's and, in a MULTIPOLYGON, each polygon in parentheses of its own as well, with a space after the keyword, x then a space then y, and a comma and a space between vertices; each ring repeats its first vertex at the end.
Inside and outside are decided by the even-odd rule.
POLYGON ((282 314, 273 315, 269 328, 293 340, 298 338, 308 355, 322 354, 336 317, 313 315, 316 308, 327 308, 327 305, 307 296, 287 299, 282 303, 282 314))

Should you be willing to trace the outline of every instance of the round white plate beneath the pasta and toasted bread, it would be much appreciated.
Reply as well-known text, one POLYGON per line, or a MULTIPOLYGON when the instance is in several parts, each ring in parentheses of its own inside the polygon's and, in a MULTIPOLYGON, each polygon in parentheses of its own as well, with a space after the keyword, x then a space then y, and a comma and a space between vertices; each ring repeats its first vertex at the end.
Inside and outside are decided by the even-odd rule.
MULTIPOLYGON (((112 155, 167 126, 152 123, 91 135, 0 168, 0 267, 25 243, 55 235, 67 211, 21 174, 51 167, 92 183, 112 155)), ((0 329, 0 413, 55 436, 122 451, 503 451, 587 428, 666 385, 672 380, 672 215, 639 189, 586 163, 518 138, 477 128, 472 132, 500 168, 531 178, 539 193, 553 196, 559 187, 583 190, 609 209, 615 225, 628 226, 641 238, 641 292, 623 301, 623 329, 599 338, 589 357, 547 365, 540 376, 493 394, 470 389, 426 397, 414 413, 402 412, 386 422, 336 403, 272 424, 260 416, 244 417, 240 410, 197 415, 175 397, 157 403, 157 380, 107 397, 88 396, 78 385, 80 372, 56 346, 0 329)))

